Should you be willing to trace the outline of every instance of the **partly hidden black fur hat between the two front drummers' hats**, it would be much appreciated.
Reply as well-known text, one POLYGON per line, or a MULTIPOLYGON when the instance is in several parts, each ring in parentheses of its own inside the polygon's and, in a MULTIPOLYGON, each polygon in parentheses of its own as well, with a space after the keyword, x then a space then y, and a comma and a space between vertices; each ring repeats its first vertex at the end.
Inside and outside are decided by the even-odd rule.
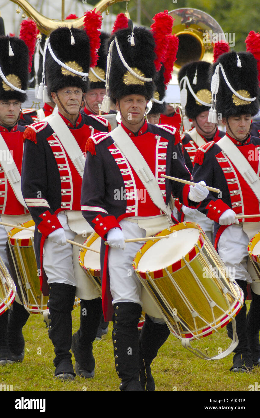
POLYGON ((98 50, 99 59, 93 71, 102 78, 101 81, 93 74, 92 69, 89 70, 89 89, 105 89, 106 88, 106 71, 107 71, 107 42, 110 35, 105 32, 100 34, 100 48, 98 50))

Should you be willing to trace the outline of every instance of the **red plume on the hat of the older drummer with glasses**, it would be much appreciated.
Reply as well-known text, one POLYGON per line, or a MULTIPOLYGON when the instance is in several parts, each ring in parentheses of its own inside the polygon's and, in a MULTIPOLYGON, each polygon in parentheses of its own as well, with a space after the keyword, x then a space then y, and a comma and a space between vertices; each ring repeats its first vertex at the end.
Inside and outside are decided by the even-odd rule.
POLYGON ((89 37, 90 46, 90 66, 94 68, 97 65, 98 54, 100 47, 100 31, 102 25, 102 15, 100 12, 96 13, 96 9, 88 10, 84 13, 84 29, 89 37))

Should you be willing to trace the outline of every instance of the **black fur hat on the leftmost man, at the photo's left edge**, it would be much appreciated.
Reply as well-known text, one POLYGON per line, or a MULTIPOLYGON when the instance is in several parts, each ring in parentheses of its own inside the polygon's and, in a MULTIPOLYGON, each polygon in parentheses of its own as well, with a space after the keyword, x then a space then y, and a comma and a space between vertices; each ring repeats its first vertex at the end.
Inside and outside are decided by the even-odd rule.
POLYGON ((0 36, 0 66, 3 75, 8 82, 20 89, 20 91, 13 89, 0 76, 1 100, 25 102, 28 87, 28 62, 28 48, 21 39, 12 36, 0 36))

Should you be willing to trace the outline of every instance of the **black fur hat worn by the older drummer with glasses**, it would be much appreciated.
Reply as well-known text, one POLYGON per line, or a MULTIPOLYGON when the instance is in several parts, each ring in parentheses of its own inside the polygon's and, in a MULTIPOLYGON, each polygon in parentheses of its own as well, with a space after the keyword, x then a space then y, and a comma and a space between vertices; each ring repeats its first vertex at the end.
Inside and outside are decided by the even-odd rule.
POLYGON ((58 28, 49 38, 49 45, 57 59, 82 75, 73 74, 58 64, 51 56, 49 48, 46 49, 45 74, 48 94, 64 87, 79 87, 83 92, 88 89, 90 48, 87 34, 71 26, 71 28, 58 28))

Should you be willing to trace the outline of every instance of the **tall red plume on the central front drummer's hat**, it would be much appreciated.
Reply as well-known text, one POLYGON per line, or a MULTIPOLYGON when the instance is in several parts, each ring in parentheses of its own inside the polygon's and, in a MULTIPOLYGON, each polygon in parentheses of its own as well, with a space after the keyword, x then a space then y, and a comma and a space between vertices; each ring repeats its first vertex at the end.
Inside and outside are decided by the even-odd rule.
POLYGON ((154 64, 156 71, 159 71, 162 66, 161 63, 166 57, 166 51, 169 43, 167 35, 171 34, 173 18, 168 15, 168 10, 164 10, 164 12, 157 13, 153 20, 154 23, 151 25, 151 30, 155 40, 155 54, 157 56, 154 64))

